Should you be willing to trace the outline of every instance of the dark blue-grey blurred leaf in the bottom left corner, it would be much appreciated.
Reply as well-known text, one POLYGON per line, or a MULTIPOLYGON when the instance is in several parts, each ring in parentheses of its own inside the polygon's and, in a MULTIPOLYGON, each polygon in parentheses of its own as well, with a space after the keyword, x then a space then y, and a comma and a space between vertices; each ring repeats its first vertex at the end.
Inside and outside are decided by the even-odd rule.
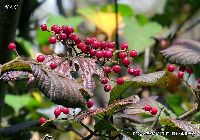
POLYGON ((15 135, 36 124, 38 124, 38 120, 27 121, 20 124, 12 125, 10 127, 0 128, 0 135, 2 136, 15 135))

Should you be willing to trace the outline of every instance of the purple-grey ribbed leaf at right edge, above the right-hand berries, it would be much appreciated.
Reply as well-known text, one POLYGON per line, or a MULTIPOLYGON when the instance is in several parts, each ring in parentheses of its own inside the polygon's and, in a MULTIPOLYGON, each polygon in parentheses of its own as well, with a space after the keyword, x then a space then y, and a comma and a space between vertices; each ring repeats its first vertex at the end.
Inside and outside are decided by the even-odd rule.
POLYGON ((179 65, 194 65, 200 63, 200 42, 188 39, 178 39, 171 47, 161 51, 170 62, 179 65))

